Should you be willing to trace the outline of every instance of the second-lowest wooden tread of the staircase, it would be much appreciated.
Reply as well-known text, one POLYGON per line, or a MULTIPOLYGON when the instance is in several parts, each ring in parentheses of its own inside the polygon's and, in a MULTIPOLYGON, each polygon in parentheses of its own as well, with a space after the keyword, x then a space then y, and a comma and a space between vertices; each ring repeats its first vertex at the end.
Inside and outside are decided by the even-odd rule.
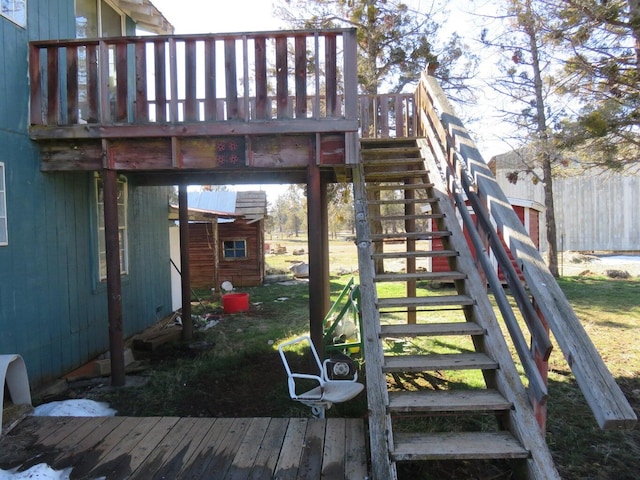
POLYGON ((389 392, 392 412, 504 412, 511 407, 497 390, 389 392))

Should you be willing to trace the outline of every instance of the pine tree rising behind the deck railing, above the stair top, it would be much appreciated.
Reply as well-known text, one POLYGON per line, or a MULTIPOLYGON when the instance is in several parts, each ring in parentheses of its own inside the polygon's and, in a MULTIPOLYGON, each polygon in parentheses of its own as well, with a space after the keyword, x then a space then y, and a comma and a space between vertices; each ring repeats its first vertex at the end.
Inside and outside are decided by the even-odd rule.
POLYGON ((364 94, 376 95, 383 85, 386 93, 400 92, 435 62, 445 86, 460 97, 469 93, 463 80, 473 74, 477 59, 455 34, 439 44, 435 19, 446 12, 435 2, 420 12, 400 0, 279 0, 276 5, 278 17, 292 28, 358 29, 358 81, 364 94))

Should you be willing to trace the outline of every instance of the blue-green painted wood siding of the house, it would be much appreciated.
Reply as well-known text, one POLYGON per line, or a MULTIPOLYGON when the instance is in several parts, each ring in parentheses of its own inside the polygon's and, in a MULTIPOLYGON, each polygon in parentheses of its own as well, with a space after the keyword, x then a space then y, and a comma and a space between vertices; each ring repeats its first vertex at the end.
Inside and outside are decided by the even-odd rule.
MULTIPOLYGON (((9 245, 0 247, 0 354, 19 353, 33 386, 108 350, 107 298, 95 277, 92 173, 41 173, 28 136, 29 40, 73 38, 73 0, 29 0, 28 26, 0 17, 0 162, 9 245)), ((125 335, 170 313, 166 188, 129 182, 125 335)))

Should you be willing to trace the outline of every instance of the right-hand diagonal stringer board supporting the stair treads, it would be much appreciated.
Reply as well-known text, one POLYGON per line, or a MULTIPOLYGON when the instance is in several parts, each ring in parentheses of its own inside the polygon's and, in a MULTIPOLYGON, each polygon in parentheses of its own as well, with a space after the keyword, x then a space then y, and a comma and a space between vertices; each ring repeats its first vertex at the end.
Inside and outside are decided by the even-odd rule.
MULTIPOLYGON (((458 270, 467 274, 465 282, 467 291, 464 293, 475 300, 475 305, 472 307, 474 319, 486 331, 484 337, 485 353, 500 365, 495 374, 495 387, 513 404, 513 408, 509 412, 507 427, 522 446, 530 452, 530 457, 526 460, 527 476, 530 479, 540 480, 560 479, 489 301, 485 282, 480 277, 471 256, 469 245, 456 219, 451 199, 445 193, 447 190, 444 180, 438 173, 439 166, 433 158, 428 141, 418 139, 417 143, 421 149, 426 169, 432 172, 429 180, 434 184, 433 196, 440 199, 438 205, 441 213, 445 214, 444 222, 451 232, 449 242, 451 247, 459 252, 457 257, 458 270)), ((486 254, 486 252, 477 252, 477 254, 486 254)))

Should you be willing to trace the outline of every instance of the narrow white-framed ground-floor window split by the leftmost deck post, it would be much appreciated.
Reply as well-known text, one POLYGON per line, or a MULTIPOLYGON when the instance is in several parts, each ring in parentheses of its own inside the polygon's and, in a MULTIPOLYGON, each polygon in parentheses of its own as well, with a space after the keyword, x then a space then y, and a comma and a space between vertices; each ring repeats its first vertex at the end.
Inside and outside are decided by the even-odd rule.
MULTIPOLYGON (((102 178, 96 178, 96 204, 98 226, 98 272, 101 282, 107 279, 107 247, 104 226, 104 186, 102 178)), ((127 180, 124 177, 118 179, 118 241, 120 244, 120 273, 128 273, 128 242, 127 242, 127 180)))

